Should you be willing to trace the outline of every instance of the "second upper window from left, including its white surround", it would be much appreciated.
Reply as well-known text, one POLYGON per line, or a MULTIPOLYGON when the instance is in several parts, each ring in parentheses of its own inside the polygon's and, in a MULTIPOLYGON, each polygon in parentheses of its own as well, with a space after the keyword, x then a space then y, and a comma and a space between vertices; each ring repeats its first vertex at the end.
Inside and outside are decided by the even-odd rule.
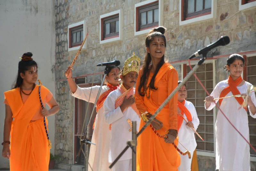
POLYGON ((100 15, 100 44, 122 40, 122 10, 100 15))

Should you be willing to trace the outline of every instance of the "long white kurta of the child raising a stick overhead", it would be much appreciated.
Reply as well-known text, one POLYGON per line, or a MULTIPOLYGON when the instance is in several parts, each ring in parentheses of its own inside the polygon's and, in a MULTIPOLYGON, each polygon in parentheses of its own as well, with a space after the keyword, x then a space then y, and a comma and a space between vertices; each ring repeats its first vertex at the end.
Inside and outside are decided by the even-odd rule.
MULTIPOLYGON (((76 92, 73 94, 70 91, 70 94, 76 98, 89 101, 90 103, 95 103, 98 91, 100 86, 93 86, 89 88, 80 88, 77 87, 76 92), (92 89, 90 101, 89 95, 92 89)), ((100 95, 107 91, 109 88, 107 86, 102 86, 100 90, 100 95)), ((108 163, 108 152, 109 152, 109 144, 111 138, 111 131, 108 129, 108 124, 105 122, 104 116, 104 108, 103 106, 99 109, 95 125, 92 134, 92 143, 96 145, 91 145, 90 154, 89 154, 89 164, 92 167, 93 171, 111 171, 109 169, 108 163)), ((91 167, 88 166, 88 170, 91 170, 91 167)))

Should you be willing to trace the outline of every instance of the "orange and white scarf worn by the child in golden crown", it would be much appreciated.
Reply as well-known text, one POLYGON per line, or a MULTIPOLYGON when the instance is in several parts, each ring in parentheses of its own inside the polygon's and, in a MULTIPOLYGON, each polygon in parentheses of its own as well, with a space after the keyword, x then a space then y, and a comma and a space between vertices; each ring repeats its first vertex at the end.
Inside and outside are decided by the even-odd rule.
MULTIPOLYGON (((120 87, 118 87, 119 91, 122 93, 121 96, 119 96, 117 99, 116 99, 116 104, 115 104, 115 109, 117 107, 119 107, 120 105, 123 104, 123 101, 124 101, 124 97, 126 96, 126 98, 129 98, 130 96, 133 96, 134 95, 134 90, 133 90, 133 87, 131 87, 130 89, 126 89, 124 87, 124 84, 122 83, 120 87)), ((138 116, 140 116, 140 112, 139 110, 137 109, 136 107, 136 104, 133 103, 131 105, 132 109, 138 114, 138 116)), ((126 110, 126 108, 124 109, 124 111, 126 110)), ((123 111, 123 112, 124 112, 123 111)), ((111 124, 109 125, 109 130, 111 130, 111 124)))

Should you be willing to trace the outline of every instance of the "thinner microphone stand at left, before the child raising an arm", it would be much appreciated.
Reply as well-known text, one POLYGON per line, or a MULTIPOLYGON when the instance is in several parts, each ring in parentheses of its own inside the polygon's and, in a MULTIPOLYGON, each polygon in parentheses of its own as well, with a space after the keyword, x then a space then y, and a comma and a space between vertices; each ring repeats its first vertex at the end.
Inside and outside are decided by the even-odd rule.
MULTIPOLYGON (((83 144, 86 144, 86 147, 85 147, 85 162, 84 162, 84 163, 85 163, 85 164, 84 164, 85 171, 88 171, 88 160, 89 160, 89 152, 90 152, 90 151, 89 151, 89 144, 94 144, 94 143, 92 143, 92 142, 89 141, 89 139, 90 139, 90 136, 89 136, 89 132, 90 132, 89 124, 90 124, 90 122, 91 122, 91 120, 92 120, 92 114, 93 114, 93 112, 94 112, 96 103, 97 103, 98 98, 99 98, 99 96, 100 96, 100 90, 101 90, 101 88, 102 88, 102 85, 103 85, 103 82, 104 82, 105 77, 106 77, 106 75, 107 75, 107 72, 108 72, 108 66, 106 66, 106 68, 105 68, 105 70, 104 70, 104 76, 103 76, 103 79, 102 79, 102 81, 101 81, 100 89, 99 89, 98 94, 97 94, 97 97, 96 97, 96 99, 95 99, 94 106, 93 106, 93 108, 92 108, 92 113, 91 113, 90 119, 89 119, 89 121, 88 121, 87 129, 86 129, 86 131, 85 131, 84 138, 80 140, 82 144, 80 145, 79 151, 78 151, 78 153, 77 153, 77 155, 76 155, 76 161, 75 161, 75 163, 78 163, 79 156, 80 156, 81 150, 82 150, 82 148, 83 148, 83 144), (85 137, 86 137, 86 139, 85 139, 85 137)), ((96 144, 94 144, 94 145, 96 145, 96 144)))

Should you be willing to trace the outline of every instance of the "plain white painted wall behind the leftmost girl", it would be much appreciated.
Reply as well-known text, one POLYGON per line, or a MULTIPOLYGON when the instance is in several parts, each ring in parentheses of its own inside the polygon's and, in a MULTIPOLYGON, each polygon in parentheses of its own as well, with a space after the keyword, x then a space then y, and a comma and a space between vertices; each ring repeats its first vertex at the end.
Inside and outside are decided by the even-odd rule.
MULTIPOLYGON (((32 52, 38 64, 38 79, 55 97, 55 17, 52 0, 0 1, 0 142, 4 130, 4 91, 12 87, 23 53, 32 52)), ((54 116, 48 117, 49 136, 54 153, 54 116)), ((0 148, 2 152, 2 146, 0 148)), ((1 153, 2 154, 2 153, 1 153)), ((9 160, 0 156, 0 169, 9 160)))

